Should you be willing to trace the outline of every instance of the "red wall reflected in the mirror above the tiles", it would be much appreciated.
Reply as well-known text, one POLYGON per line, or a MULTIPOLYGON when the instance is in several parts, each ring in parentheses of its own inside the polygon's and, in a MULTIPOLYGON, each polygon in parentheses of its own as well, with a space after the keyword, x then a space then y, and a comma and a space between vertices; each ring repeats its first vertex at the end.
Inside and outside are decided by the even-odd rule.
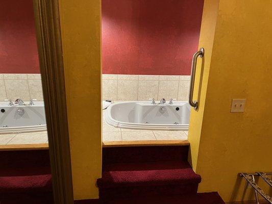
POLYGON ((0 73, 39 73, 32 0, 0 3, 0 73))

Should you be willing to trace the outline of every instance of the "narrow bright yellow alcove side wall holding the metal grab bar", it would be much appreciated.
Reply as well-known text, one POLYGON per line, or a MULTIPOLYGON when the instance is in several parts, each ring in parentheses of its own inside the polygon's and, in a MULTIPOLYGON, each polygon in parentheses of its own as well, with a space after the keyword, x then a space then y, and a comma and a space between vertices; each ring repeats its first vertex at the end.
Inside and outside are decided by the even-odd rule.
POLYGON ((199 109, 191 109, 188 140, 190 142, 189 161, 196 170, 199 143, 202 130, 202 120, 209 78, 210 62, 214 40, 214 32, 218 14, 219 0, 206 0, 203 7, 199 47, 204 47, 204 57, 197 60, 195 73, 194 99, 199 102, 199 109), (200 81, 202 79, 202 81, 200 81))

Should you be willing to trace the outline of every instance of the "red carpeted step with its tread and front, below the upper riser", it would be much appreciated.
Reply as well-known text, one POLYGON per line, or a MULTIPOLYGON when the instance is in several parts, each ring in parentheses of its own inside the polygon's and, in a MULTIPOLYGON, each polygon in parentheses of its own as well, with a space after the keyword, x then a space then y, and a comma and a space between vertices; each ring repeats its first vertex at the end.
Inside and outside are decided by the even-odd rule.
POLYGON ((101 198, 196 193, 200 175, 187 161, 104 164, 97 180, 101 198))

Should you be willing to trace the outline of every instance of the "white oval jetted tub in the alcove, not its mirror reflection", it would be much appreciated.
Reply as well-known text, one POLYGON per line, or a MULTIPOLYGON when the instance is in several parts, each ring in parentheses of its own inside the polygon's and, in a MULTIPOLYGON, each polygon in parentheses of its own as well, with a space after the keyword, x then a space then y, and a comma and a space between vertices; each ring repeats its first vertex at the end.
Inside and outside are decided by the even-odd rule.
POLYGON ((151 104, 150 101, 111 104, 105 114, 109 125, 125 129, 188 131, 190 106, 185 101, 151 104))

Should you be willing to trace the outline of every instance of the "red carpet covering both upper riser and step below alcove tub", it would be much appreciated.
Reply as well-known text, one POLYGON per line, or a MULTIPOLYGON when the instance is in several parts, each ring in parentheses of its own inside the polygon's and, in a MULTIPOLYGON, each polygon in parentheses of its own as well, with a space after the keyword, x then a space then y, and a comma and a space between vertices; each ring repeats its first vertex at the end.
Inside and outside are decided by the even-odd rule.
POLYGON ((201 177, 187 157, 188 146, 103 148, 100 198, 196 193, 201 177))

